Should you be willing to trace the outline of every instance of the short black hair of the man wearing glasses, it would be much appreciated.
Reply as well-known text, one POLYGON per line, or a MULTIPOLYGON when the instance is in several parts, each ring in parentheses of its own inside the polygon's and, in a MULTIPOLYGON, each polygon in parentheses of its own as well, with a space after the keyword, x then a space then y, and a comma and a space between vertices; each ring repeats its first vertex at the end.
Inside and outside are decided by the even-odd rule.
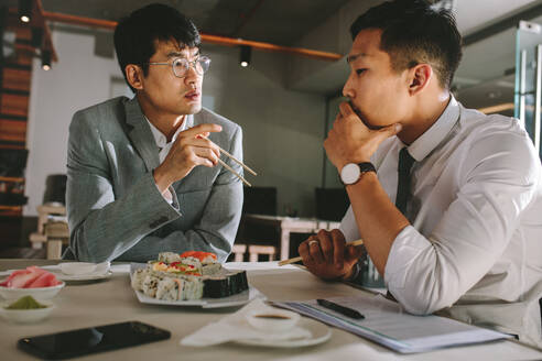
POLYGON ((202 39, 196 25, 175 8, 163 3, 151 3, 133 11, 119 21, 115 29, 115 50, 120 70, 128 86, 136 92, 126 78, 128 64, 142 67, 147 76, 149 59, 156 52, 155 41, 176 41, 181 47, 200 47, 202 39))

